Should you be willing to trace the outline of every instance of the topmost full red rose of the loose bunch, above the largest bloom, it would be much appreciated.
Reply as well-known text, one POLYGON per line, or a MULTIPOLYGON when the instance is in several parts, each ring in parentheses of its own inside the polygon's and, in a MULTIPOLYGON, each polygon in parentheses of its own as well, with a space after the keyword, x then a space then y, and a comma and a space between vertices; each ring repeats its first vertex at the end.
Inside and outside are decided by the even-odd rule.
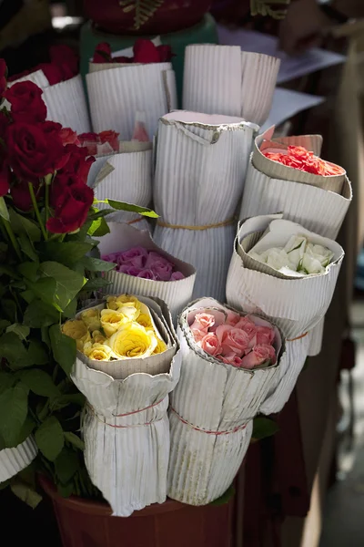
POLYGON ((4 97, 11 104, 11 114, 15 121, 45 121, 46 107, 43 91, 33 82, 25 81, 6 89, 4 97))

